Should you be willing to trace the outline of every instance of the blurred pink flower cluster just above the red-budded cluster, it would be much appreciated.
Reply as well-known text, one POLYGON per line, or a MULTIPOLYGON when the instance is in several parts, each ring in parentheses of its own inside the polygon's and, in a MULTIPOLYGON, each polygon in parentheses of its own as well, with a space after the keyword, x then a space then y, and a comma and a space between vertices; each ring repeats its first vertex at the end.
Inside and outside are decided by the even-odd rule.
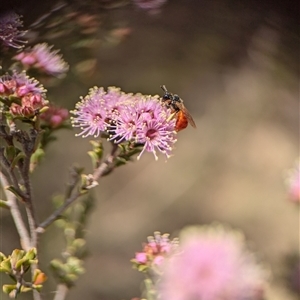
POLYGON ((15 60, 20 61, 26 69, 35 68, 42 73, 61 76, 68 69, 68 64, 58 54, 59 50, 52 50, 53 46, 48 44, 37 44, 16 55, 15 60))

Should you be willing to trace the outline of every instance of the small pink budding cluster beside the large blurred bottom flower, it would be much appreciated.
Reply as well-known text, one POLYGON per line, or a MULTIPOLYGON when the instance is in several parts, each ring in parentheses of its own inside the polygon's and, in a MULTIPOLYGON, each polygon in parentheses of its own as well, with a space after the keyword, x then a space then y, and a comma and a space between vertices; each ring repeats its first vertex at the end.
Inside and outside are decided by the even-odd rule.
POLYGON ((169 234, 161 235, 160 232, 154 232, 154 236, 148 237, 148 242, 144 245, 142 252, 137 252, 135 258, 131 261, 139 271, 159 270, 164 259, 175 253, 178 246, 178 239, 169 239, 169 234))

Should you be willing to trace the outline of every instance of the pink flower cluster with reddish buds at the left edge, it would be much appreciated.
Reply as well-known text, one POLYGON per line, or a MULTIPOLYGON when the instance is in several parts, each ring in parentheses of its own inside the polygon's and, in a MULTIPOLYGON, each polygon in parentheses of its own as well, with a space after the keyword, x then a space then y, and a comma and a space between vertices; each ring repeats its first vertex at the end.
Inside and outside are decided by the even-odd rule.
POLYGON ((44 108, 48 104, 45 92, 43 86, 25 72, 0 77, 0 101, 9 106, 15 117, 33 117, 44 108))

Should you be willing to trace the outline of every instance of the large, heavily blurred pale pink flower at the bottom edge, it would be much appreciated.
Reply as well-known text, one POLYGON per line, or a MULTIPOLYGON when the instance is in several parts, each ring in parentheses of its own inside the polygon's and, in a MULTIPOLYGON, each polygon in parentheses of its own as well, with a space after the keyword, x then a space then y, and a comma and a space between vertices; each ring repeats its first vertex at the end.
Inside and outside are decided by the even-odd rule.
POLYGON ((199 226, 183 230, 179 239, 179 253, 162 266, 161 299, 261 299, 266 273, 245 249, 240 233, 199 226))

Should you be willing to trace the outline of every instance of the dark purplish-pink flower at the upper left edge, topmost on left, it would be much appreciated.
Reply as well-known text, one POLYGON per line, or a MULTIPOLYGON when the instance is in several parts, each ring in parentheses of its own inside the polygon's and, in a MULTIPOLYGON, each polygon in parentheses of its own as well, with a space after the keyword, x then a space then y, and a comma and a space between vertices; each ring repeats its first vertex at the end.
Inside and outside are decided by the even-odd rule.
POLYGON ((15 12, 8 12, 0 16, 0 41, 13 48, 21 49, 26 41, 20 39, 26 31, 19 30, 23 26, 21 17, 15 12))

